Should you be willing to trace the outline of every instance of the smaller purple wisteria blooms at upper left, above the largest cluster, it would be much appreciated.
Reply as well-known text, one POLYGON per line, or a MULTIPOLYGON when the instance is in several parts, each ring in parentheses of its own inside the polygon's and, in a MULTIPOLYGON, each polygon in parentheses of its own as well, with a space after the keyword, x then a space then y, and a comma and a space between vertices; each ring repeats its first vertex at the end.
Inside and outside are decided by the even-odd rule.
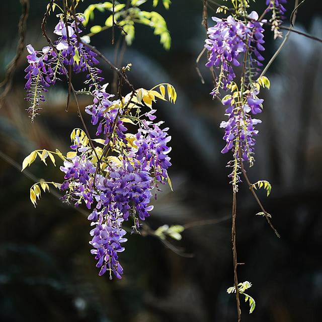
POLYGON ((54 42, 54 48, 46 46, 42 51, 36 51, 32 45, 27 46, 29 66, 25 69, 27 73, 25 89, 26 100, 31 103, 27 111, 31 114, 32 120, 38 114, 41 102, 45 101, 43 93, 55 84, 60 75, 67 73, 69 65, 75 73, 82 71, 87 73, 85 84, 90 87, 99 89, 99 84, 103 81, 100 76, 101 70, 95 67, 99 63, 96 59, 97 54, 77 40, 77 33, 82 32, 78 25, 84 21, 84 18, 78 16, 77 24, 71 20, 67 22, 67 26, 62 19, 61 17, 54 30, 54 33, 59 36, 54 42))

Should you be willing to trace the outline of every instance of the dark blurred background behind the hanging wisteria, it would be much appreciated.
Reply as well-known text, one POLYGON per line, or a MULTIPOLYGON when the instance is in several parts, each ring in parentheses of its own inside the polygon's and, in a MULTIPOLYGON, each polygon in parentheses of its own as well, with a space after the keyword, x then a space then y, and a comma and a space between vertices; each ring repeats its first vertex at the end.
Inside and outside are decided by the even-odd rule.
MULTIPOLYGON (((151 2, 144 5, 146 10, 152 10, 151 2)), ((289 15, 294 4, 288 2, 289 15)), ((86 0, 80 9, 92 3, 97 2, 86 0)), ((44 0, 30 1, 27 44, 35 48, 46 44, 40 29, 46 5, 44 0)), ((265 1, 258 0, 254 7, 262 11, 265 1)), ((29 200, 33 180, 59 182, 62 177, 57 168, 40 162, 26 176, 19 170, 23 158, 36 148, 67 151, 69 133, 81 122, 74 102, 68 113, 64 111, 67 87, 62 83, 49 92, 41 115, 30 123, 24 101, 26 60, 21 59, 13 89, 0 110, 0 321, 236 320, 235 298, 226 293, 233 284, 233 266, 231 187, 225 168, 229 156, 220 153, 224 109, 209 96, 212 84, 205 57, 200 61, 204 85, 195 68, 205 38, 202 1, 173 0, 169 11, 161 5, 157 11, 168 22, 171 49, 165 51, 152 30, 139 26, 120 65, 132 63, 128 75, 136 88, 169 82, 177 90, 176 105, 157 105, 157 116, 165 120, 173 137, 174 192, 165 187, 147 223, 152 229, 187 224, 182 240, 169 240, 170 250, 158 238, 132 234, 120 256, 124 277, 110 281, 108 274, 98 276, 90 254, 85 211, 75 211, 51 194, 44 194, 34 209, 29 200)), ((20 13, 18 0, 0 2, 2 79, 15 55, 20 13)), ((209 16, 214 14, 209 8, 209 16)), ((97 14, 97 24, 104 23, 104 17, 97 14)), ((53 26, 51 18, 47 29, 53 26)), ((295 27, 322 37, 319 0, 303 4, 295 27)), ((267 59, 280 44, 272 38, 268 31, 267 59)), ((110 31, 93 37, 92 43, 114 59, 110 31)), ((104 76, 112 83, 109 68, 104 76)), ((263 91, 256 163, 248 174, 252 182, 271 182, 269 198, 265 192, 259 195, 281 239, 264 218, 255 216, 260 209, 246 184, 240 184, 237 255, 245 265, 238 267, 238 277, 253 283, 249 293, 256 300, 251 315, 248 303, 242 301, 242 316, 245 321, 319 321, 322 44, 292 34, 268 76, 271 90, 263 91)), ((76 77, 75 86, 82 87, 76 77)), ((88 98, 83 99, 85 106, 88 98)))

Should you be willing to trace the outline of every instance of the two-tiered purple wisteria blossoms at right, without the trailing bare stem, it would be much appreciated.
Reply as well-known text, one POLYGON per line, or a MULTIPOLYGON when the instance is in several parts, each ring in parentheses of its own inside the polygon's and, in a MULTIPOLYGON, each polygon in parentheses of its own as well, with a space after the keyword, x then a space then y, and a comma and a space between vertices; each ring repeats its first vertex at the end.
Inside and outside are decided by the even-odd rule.
POLYGON ((216 86, 211 92, 213 97, 220 95, 220 90, 231 91, 222 99, 226 106, 228 121, 223 121, 220 127, 225 129, 223 139, 226 142, 221 150, 226 153, 233 152, 233 160, 228 163, 232 167, 229 175, 234 189, 237 189, 239 178, 239 161, 247 161, 252 166, 254 162, 255 136, 258 130, 255 126, 261 120, 253 118, 253 115, 261 113, 263 99, 258 98, 261 86, 269 87, 266 77, 256 79, 261 61, 264 57, 261 51, 265 48, 264 28, 265 20, 258 21, 256 12, 248 15, 249 21, 239 20, 237 17, 228 16, 226 19, 213 17, 216 22, 214 27, 208 29, 208 39, 205 48, 209 51, 208 67, 216 67, 219 75, 216 77, 216 86), (236 77, 235 66, 243 65, 240 88, 238 89, 234 79, 236 77))

